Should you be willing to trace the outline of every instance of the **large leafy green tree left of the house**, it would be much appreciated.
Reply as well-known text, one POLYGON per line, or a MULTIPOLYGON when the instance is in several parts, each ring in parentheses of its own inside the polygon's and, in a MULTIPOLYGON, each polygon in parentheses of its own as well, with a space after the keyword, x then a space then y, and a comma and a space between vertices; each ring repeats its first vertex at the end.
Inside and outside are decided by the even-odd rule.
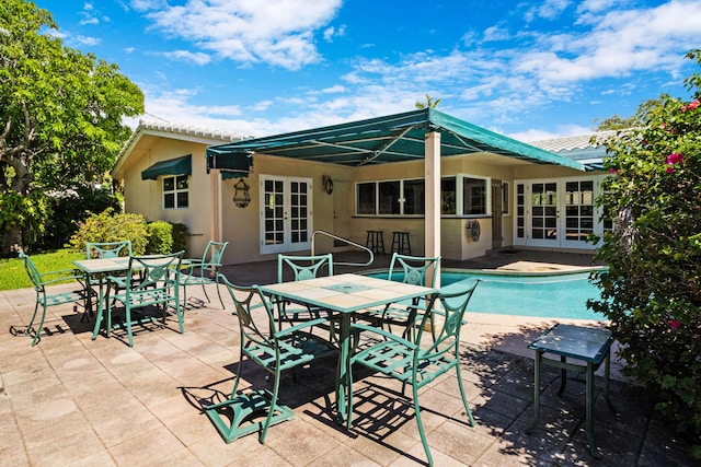
POLYGON ((30 1, 0 4, 3 253, 42 229, 41 190, 100 182, 130 135, 123 117, 143 113, 143 94, 116 65, 65 47, 57 30, 30 1))

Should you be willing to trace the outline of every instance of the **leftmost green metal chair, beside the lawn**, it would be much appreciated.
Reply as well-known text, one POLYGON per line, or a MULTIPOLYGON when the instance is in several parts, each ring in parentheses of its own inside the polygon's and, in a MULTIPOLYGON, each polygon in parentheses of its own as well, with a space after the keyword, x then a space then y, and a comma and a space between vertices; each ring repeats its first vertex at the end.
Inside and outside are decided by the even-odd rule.
POLYGON ((39 341, 39 335, 42 329, 44 328, 44 320, 46 319, 46 310, 49 306, 64 305, 66 303, 79 302, 82 301, 85 304, 85 295, 82 291, 71 291, 71 292, 61 292, 61 293, 47 293, 46 287, 54 285, 59 283, 66 283, 68 281, 73 281, 78 279, 82 279, 81 275, 76 275, 72 269, 60 269, 56 271, 48 272, 39 272, 39 270, 34 266, 32 259, 24 254, 24 252, 20 252, 20 258, 24 264, 24 270, 27 276, 32 280, 34 284, 34 291, 36 292, 36 303, 34 305, 34 313, 32 314, 32 319, 30 319, 30 324, 22 331, 31 337, 32 347, 36 346, 36 342, 39 341), (34 319, 36 319, 36 315, 38 313, 39 306, 42 307, 42 317, 39 318, 39 324, 36 329, 34 329, 34 319))

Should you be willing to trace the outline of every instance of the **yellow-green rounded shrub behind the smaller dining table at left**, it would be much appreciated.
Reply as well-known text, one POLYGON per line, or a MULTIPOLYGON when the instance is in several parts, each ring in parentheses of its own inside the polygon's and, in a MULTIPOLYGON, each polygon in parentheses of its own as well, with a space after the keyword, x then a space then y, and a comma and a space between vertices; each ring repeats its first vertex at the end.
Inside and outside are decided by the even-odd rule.
POLYGON ((92 214, 78 223, 78 231, 70 237, 69 246, 85 250, 88 242, 131 241, 134 255, 143 255, 149 244, 149 231, 146 218, 134 213, 114 213, 112 208, 99 214, 92 214))

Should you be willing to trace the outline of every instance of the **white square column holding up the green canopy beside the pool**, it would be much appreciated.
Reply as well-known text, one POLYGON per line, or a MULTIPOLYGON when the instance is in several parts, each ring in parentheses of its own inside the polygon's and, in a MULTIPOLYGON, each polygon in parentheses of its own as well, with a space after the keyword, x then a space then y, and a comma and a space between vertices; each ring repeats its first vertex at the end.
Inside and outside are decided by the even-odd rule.
MULTIPOLYGON (((424 138, 424 179, 426 184, 425 256, 430 257, 440 255, 440 133, 432 131, 426 133, 424 138)), ((437 283, 426 285, 439 288, 440 270, 436 278, 437 283)))

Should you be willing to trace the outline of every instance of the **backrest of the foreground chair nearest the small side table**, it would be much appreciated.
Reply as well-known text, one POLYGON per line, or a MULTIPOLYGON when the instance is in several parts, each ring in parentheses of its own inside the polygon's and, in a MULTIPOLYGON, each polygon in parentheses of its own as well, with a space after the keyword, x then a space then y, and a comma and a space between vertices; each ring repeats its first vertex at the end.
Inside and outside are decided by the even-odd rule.
POLYGON ((468 310, 468 303, 476 289, 480 279, 473 283, 463 287, 451 287, 449 291, 443 289, 432 296, 428 311, 424 314, 416 342, 422 342, 422 336, 425 330, 430 331, 429 318, 435 313, 440 319, 434 319, 433 336, 430 347, 420 347, 418 357, 427 353, 446 353, 449 350, 458 351, 460 343, 460 329, 464 324, 464 313, 468 310))

